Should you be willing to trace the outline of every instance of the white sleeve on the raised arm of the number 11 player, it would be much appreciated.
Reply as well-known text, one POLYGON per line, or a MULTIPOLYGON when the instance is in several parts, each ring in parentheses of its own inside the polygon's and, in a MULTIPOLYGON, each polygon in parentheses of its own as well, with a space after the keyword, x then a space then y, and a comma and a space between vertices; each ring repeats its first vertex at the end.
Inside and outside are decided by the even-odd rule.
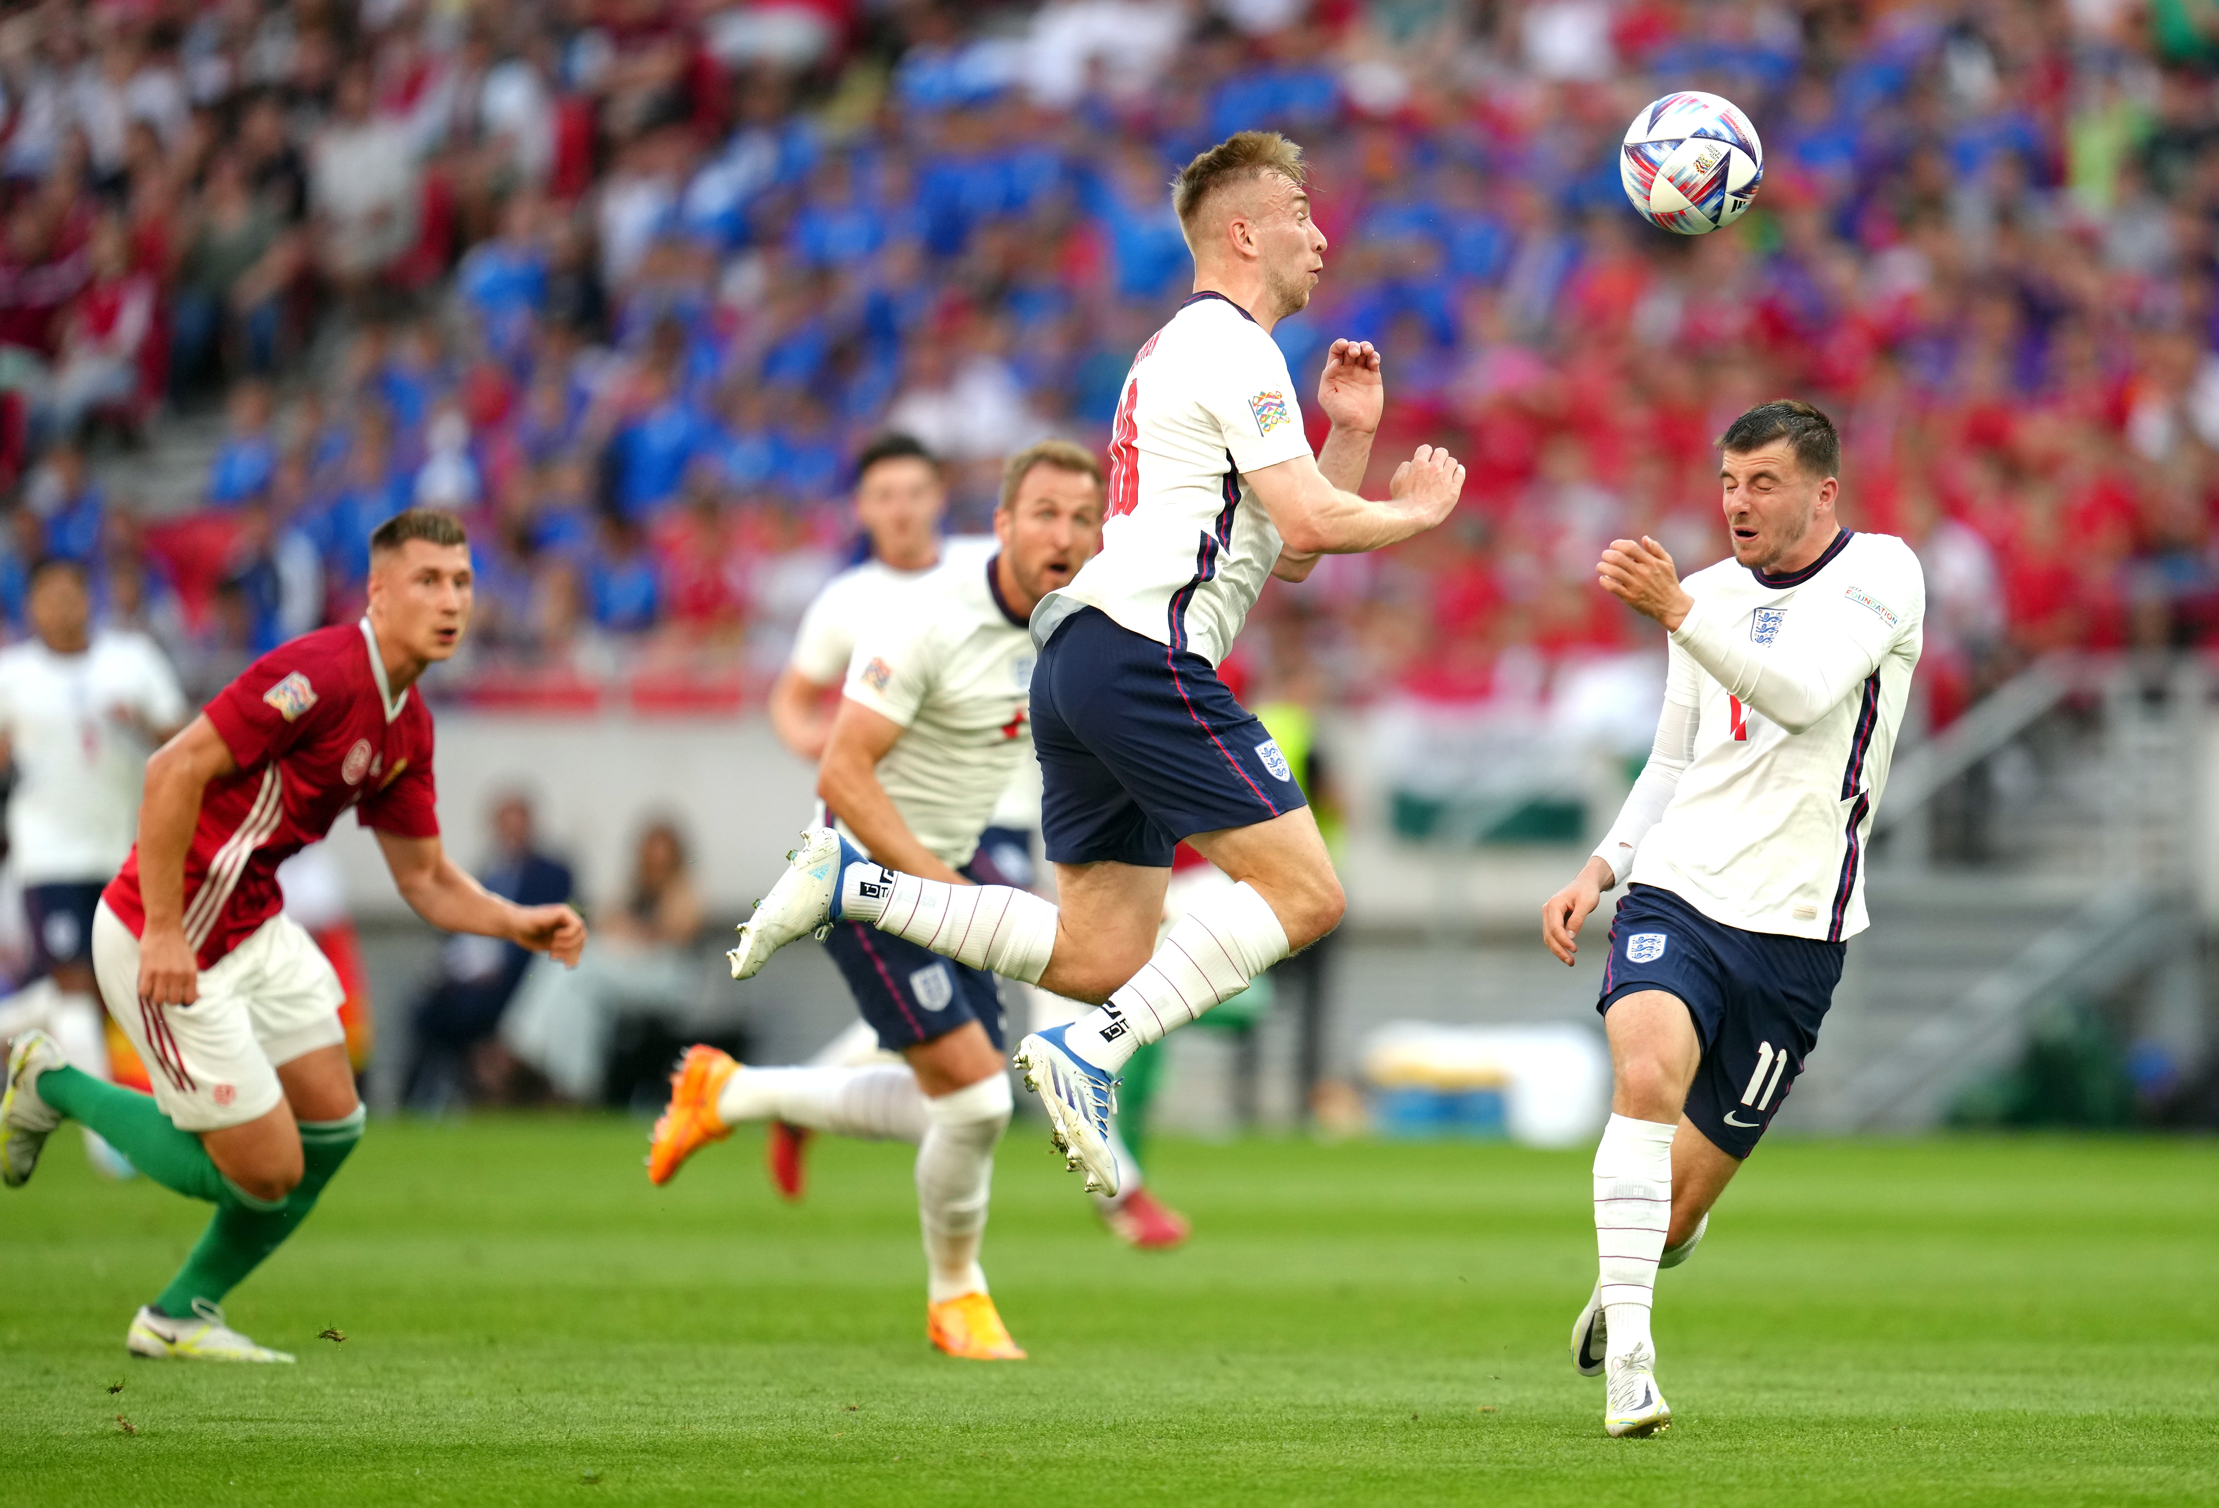
POLYGON ((1706 612, 1702 597, 1671 636, 1729 694, 1791 734, 1806 732, 1840 707, 1879 665, 1891 639, 1893 625, 1875 612, 1842 612, 1826 599, 1797 601, 1780 643, 1766 654, 1740 619, 1706 612))

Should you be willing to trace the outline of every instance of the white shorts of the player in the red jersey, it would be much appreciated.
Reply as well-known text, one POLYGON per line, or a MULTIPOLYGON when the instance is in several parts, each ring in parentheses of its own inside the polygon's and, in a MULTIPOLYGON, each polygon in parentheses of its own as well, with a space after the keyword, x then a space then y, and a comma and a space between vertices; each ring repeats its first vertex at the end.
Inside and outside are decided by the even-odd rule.
POLYGON ((138 938, 102 903, 93 911, 93 976, 146 1064, 155 1104, 180 1131, 268 1115, 284 1098, 277 1064, 346 1042, 346 989, 291 916, 268 918, 202 969, 193 1005, 140 1005, 138 938))

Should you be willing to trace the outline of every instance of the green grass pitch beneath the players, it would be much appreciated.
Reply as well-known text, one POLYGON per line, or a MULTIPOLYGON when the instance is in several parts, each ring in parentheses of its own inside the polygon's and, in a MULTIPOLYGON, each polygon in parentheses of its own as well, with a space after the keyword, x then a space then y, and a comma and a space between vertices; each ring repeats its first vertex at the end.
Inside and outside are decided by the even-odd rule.
POLYGON ((799 1209, 752 1135, 663 1191, 641 1149, 375 1122, 231 1302, 300 1366, 226 1368, 126 1359, 200 1209, 64 1133, 0 1195, 0 1504, 2219 1501, 2212 1142, 1766 1147, 1664 1273, 1649 1441, 1564 1357, 1584 1153, 1172 1142, 1198 1235, 1138 1255, 1019 1124, 985 1260, 1032 1359, 965 1364, 908 1149, 821 1140, 799 1209))

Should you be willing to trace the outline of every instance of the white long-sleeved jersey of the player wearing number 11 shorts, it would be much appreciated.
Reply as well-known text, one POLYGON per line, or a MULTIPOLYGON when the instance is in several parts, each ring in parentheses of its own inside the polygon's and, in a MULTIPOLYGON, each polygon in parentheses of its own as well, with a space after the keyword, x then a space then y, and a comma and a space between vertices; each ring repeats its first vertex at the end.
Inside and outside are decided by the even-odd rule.
POLYGON ((1844 530, 1806 570, 1729 557, 1684 585, 1695 610, 1671 634, 1664 696, 1695 710, 1693 758, 1629 878, 1744 931, 1851 938, 1919 663, 1919 561, 1844 530))

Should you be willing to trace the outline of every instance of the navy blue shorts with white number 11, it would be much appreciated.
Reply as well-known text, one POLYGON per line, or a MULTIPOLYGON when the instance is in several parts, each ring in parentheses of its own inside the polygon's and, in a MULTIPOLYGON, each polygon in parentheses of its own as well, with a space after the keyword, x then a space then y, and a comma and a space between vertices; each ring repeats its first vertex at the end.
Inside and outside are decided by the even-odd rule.
POLYGON ((1631 885, 1611 916, 1595 1011, 1644 989, 1684 1000, 1702 1038, 1686 1118, 1720 1151, 1746 1158, 1817 1047, 1846 947, 1726 927, 1669 889, 1631 885))

